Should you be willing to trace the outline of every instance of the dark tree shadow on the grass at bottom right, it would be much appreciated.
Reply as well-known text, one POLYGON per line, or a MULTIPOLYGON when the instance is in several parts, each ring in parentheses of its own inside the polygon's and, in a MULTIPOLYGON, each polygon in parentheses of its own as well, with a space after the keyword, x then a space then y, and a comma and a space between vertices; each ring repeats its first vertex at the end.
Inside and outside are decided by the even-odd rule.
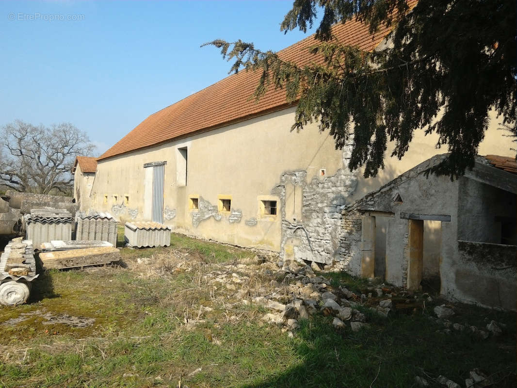
POLYGON ((422 370, 431 386, 440 386, 432 380, 439 375, 463 386, 474 368, 496 373, 497 386, 514 386, 515 347, 501 351, 500 345, 515 344, 515 333, 479 341, 467 333, 437 332, 422 315, 384 319, 364 312, 372 326, 357 333, 334 329, 330 318, 303 321, 293 339, 303 362, 241 388, 410 387, 416 376, 425 377, 422 370))

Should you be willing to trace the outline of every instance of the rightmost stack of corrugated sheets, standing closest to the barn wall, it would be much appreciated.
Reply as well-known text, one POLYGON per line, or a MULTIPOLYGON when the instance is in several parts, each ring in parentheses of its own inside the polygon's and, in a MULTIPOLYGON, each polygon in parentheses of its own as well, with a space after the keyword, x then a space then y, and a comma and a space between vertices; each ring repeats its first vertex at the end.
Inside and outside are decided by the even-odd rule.
POLYGON ((124 238, 133 247, 171 245, 171 228, 158 222, 126 222, 124 238))

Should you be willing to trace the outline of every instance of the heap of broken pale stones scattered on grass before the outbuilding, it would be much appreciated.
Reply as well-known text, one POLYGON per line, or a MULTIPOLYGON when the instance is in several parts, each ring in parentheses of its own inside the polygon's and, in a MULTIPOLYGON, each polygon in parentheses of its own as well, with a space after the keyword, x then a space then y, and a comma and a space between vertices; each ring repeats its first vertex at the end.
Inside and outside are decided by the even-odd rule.
MULTIPOLYGON (((233 293, 240 304, 254 304, 269 310, 262 321, 282 327, 282 331, 290 337, 295 336, 300 320, 316 314, 331 318, 332 325, 337 329, 356 332, 370 326, 367 316, 361 311, 369 309, 383 317, 389 317, 394 312, 415 314, 422 309, 425 311, 425 304, 430 301, 427 293, 415 295, 384 284, 372 284, 362 292, 354 293, 344 286, 332 286, 332 281, 322 274, 315 274, 315 269, 314 265, 292 260, 279 263, 255 258, 240 260, 239 263, 230 264, 229 268, 222 265, 221 271, 212 271, 205 276, 210 283, 233 293), (258 278, 262 286, 261 283, 254 285, 258 278)), ((486 339, 502 332, 501 324, 495 321, 486 320, 486 328, 451 322, 448 318, 455 312, 450 305, 436 306, 432 311, 434 315, 427 317, 442 326, 443 329, 438 331, 443 333, 470 332, 486 339)), ((425 380, 422 378, 422 381, 425 380)))

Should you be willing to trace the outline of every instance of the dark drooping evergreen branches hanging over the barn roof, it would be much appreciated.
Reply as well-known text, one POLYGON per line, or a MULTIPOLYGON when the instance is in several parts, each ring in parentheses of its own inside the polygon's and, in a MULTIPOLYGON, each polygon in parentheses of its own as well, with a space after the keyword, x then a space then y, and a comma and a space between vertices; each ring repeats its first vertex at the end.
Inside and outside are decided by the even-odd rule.
POLYGON ((287 101, 297 102, 292 130, 316 121, 338 149, 353 139, 351 170, 364 166, 364 176, 375 176, 388 141, 394 142, 391 156, 401 159, 424 128, 449 152, 433 172, 452 179, 474 166, 491 110, 515 132, 514 0, 420 0, 413 8, 403 0, 295 0, 282 31, 306 32, 318 10, 319 42, 310 50, 323 62, 299 67, 241 40, 205 45, 233 61, 230 72, 261 71, 256 99, 269 87, 284 88, 287 101), (390 44, 373 52, 342 44, 331 27, 352 18, 372 33, 391 26, 390 44))

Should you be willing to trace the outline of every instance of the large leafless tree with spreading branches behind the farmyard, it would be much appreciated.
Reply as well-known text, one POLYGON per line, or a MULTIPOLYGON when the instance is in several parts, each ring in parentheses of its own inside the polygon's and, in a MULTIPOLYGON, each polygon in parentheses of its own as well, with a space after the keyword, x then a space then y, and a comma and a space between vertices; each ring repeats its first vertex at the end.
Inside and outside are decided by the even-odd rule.
POLYGON ((51 127, 17 120, 2 127, 0 185, 17 191, 69 194, 75 157, 91 155, 94 145, 70 123, 51 127))

